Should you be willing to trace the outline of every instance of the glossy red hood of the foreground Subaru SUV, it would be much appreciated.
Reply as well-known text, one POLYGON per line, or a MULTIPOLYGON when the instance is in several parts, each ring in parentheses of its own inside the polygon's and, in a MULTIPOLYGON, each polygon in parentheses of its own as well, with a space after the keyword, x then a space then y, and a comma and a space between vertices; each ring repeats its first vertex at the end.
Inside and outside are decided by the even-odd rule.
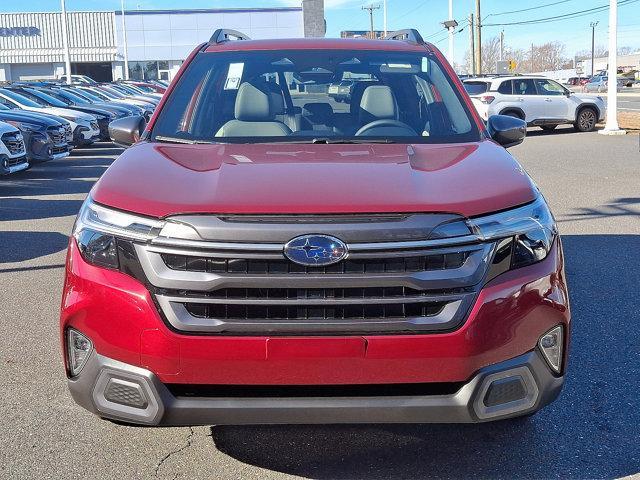
POLYGON ((127 149, 94 186, 104 205, 181 213, 449 212, 533 200, 532 181, 502 147, 472 144, 178 145, 127 149))

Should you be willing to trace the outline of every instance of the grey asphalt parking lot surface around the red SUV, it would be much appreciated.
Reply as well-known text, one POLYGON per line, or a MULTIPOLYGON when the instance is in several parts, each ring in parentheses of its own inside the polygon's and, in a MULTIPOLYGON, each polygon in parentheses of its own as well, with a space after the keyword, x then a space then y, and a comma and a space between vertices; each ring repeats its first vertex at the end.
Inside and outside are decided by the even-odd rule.
MULTIPOLYGON (((560 399, 484 425, 149 429, 77 407, 58 308, 74 215, 111 144, 0 179, 0 478, 619 478, 640 475, 640 143, 534 129, 512 149, 559 222, 573 339, 560 399)), ((141 179, 140 181, 144 181, 141 179)))

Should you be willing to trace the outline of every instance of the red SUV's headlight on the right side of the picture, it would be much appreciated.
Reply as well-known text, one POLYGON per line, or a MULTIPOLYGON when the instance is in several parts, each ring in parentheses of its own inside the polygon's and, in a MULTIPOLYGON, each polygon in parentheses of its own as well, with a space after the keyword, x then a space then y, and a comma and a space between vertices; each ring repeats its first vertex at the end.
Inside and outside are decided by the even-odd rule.
POLYGON ((543 260, 557 234, 556 222, 542 196, 523 207, 472 218, 468 223, 483 241, 513 240, 512 246, 505 244, 511 250, 510 268, 543 260))

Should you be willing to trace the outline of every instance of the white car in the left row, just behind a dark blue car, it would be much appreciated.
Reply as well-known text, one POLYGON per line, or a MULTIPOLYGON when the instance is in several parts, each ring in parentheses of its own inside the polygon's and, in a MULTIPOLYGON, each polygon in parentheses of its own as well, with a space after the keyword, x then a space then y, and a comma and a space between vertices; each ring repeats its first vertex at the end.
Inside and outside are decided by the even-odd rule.
POLYGON ((74 145, 91 145, 100 138, 100 127, 96 117, 89 113, 78 112, 68 108, 45 107, 17 92, 0 88, 0 103, 10 108, 19 108, 30 112, 55 115, 67 120, 73 132, 74 145))

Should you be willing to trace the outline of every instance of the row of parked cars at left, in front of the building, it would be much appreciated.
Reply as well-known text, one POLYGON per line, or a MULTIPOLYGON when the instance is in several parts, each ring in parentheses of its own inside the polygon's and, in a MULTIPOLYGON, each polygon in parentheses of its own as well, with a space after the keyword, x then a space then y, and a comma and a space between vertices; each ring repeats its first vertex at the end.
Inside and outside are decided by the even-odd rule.
POLYGON ((0 86, 0 175, 66 157, 74 147, 109 141, 112 121, 149 120, 166 88, 84 78, 72 85, 33 81, 0 86))

